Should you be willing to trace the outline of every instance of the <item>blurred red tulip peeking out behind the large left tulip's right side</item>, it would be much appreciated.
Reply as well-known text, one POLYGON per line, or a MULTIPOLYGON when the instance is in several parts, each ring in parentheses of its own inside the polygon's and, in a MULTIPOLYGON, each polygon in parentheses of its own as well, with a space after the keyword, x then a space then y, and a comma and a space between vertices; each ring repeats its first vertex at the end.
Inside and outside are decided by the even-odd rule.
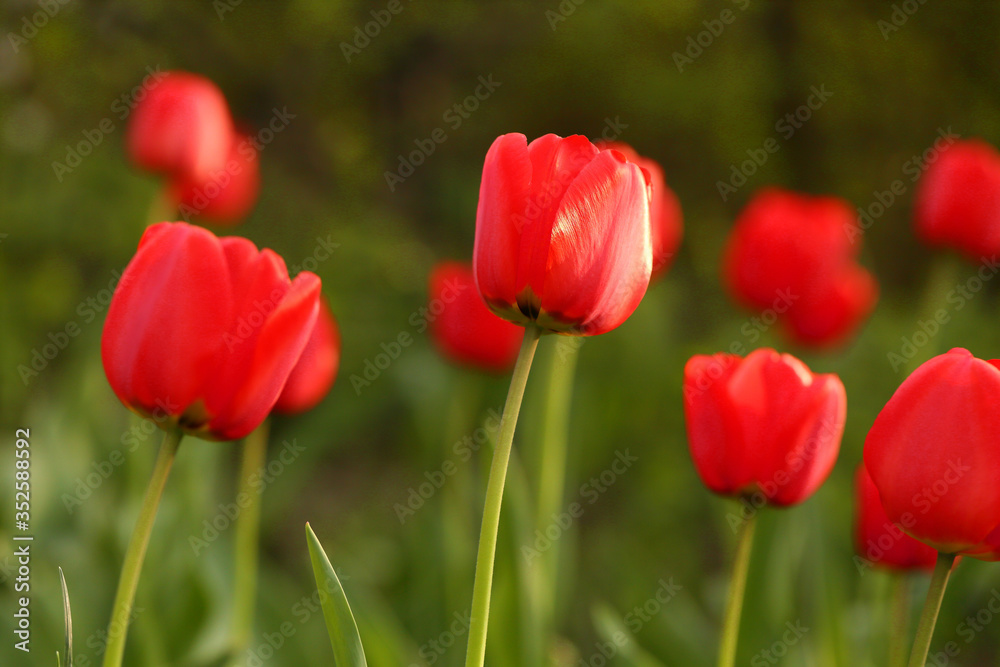
POLYGON ((340 331, 330 306, 321 298, 316 326, 274 409, 285 414, 313 409, 329 393, 339 366, 340 331))

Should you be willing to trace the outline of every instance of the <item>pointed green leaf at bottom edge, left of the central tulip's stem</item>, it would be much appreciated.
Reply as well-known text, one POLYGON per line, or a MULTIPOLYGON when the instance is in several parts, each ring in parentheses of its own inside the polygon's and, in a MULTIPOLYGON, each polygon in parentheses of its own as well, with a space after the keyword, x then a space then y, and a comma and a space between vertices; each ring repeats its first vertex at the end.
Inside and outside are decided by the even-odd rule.
POLYGON ((330 565, 330 559, 323 551, 316 533, 306 524, 306 542, 309 544, 309 558, 316 575, 316 586, 320 591, 323 618, 333 644, 333 664, 336 667, 368 667, 365 650, 361 646, 358 624, 354 622, 351 605, 347 603, 344 587, 330 565))

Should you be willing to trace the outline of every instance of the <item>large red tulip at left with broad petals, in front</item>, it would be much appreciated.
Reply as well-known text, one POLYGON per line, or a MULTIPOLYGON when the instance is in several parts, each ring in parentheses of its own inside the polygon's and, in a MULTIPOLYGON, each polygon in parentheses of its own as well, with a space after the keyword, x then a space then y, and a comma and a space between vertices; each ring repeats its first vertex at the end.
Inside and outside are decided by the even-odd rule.
POLYGON ((246 239, 185 223, 146 230, 111 300, 101 356, 128 408, 233 440, 274 407, 319 310, 320 281, 290 280, 246 239))

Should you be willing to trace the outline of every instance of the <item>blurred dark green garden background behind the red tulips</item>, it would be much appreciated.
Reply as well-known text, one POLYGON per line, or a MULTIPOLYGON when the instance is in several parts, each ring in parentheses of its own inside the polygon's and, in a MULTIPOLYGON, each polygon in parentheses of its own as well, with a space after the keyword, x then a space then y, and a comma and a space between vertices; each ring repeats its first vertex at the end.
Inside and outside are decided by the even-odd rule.
MULTIPOLYGON (((57 565, 73 602, 77 664, 99 664, 118 569, 159 439, 115 399, 99 353, 102 290, 134 252, 161 187, 126 161, 126 122, 116 113, 147 67, 212 78, 252 128, 266 126, 275 109, 294 115, 261 153, 260 201, 235 233, 274 248, 293 267, 312 268, 304 262, 317 248, 336 244, 315 270, 340 321, 341 371, 320 407, 273 423, 270 458, 285 440, 305 449, 263 496, 255 656, 280 639, 266 664, 331 663, 310 599, 316 589, 303 536, 308 520, 342 575, 370 665, 462 663, 464 634, 443 652, 431 642, 446 643, 442 633, 468 610, 488 456, 459 464, 459 473, 404 524, 394 506, 427 481, 425 472, 453 458, 452 443, 500 408, 507 380, 444 362, 411 315, 426 302, 435 261, 471 256, 482 160, 497 135, 596 139, 615 125, 618 139, 664 166, 684 208, 685 239, 673 268, 635 315, 579 351, 566 504, 583 497, 581 485, 608 469, 616 452, 628 450, 638 460, 559 539, 558 639, 550 664, 605 664, 598 644, 607 642, 608 629, 628 624, 627 615, 671 578, 682 588, 608 664, 714 664, 734 544, 726 513, 735 504, 711 496, 690 462, 681 375, 692 354, 734 342, 748 350, 789 349, 816 371, 839 373, 849 402, 829 481, 799 507, 764 512, 738 662, 885 664, 889 577, 859 574, 852 562, 852 475, 867 429, 905 377, 887 354, 898 353, 901 337, 912 338, 918 322, 945 305, 943 292, 924 295, 931 276, 946 266, 943 275, 958 283, 975 272, 915 240, 914 183, 904 170, 941 130, 1000 142, 1000 6, 578 2, 404 0, 349 62, 343 44, 357 48, 356 28, 375 20, 373 10, 384 17, 379 12, 388 2, 4 3, 0 664, 54 664, 63 641, 57 565), (732 20, 721 23, 726 10, 732 20), (44 25, 32 33, 24 21, 38 12, 44 25), (699 38, 702 46, 692 47, 699 38), (690 62, 679 67, 677 53, 690 62), (490 76, 500 84, 495 92, 456 123, 448 111, 490 76), (791 136, 779 131, 813 86, 825 86, 829 99, 791 136), (68 146, 85 132, 93 136, 105 118, 113 131, 58 179, 53 163, 65 162, 68 146), (439 127, 446 141, 390 189, 386 172, 439 127), (723 201, 718 182, 769 137, 780 150, 723 201), (878 276, 882 296, 858 338, 819 354, 789 348, 776 330, 759 340, 748 335, 752 314, 723 292, 719 258, 751 194, 779 184, 868 208, 876 191, 897 179, 905 194, 864 236, 862 262, 878 276), (37 376, 22 379, 18 367, 71 322, 79 335, 37 376), (356 391, 351 376, 362 376, 382 343, 404 331, 415 342, 356 391), (30 655, 13 649, 12 634, 16 428, 31 429, 34 457, 30 655), (135 441, 127 435, 133 428, 135 441), (97 479, 92 475, 106 470, 102 462, 116 451, 124 463, 99 484, 80 487, 88 475, 97 479), (89 496, 68 507, 67 498, 81 488, 89 496), (762 653, 781 642, 786 623, 809 630, 794 645, 762 653)), ((998 291, 988 281, 964 308, 949 311, 951 321, 912 363, 952 346, 1000 356, 998 291)), ((556 343, 542 343, 515 440, 523 474, 512 471, 511 495, 520 493, 521 505, 537 482, 540 405, 556 343)), ((126 664, 222 664, 232 531, 222 530, 197 555, 189 538, 203 537, 205 522, 232 500, 237 465, 237 444, 182 445, 140 583, 142 611, 126 664)), ((517 498, 507 500, 489 663, 529 665, 523 647, 532 628, 524 623, 524 605, 532 584, 522 581, 523 536, 515 521, 527 510, 518 510, 517 498)), ((926 578, 915 576, 912 584, 919 604, 926 578)), ((960 625, 986 607, 997 587, 1000 568, 961 564, 932 653, 955 641, 960 653, 947 664, 998 664, 1000 622, 986 623, 969 641, 960 625)))

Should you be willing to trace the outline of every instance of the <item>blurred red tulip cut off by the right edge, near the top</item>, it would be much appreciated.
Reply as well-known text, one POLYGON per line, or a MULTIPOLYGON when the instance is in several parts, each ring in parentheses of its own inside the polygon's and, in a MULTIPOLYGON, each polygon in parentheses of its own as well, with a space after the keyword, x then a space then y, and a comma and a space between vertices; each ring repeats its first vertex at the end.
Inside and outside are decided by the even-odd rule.
POLYGON ((978 139, 941 149, 920 179, 917 232, 975 262, 1000 253, 1000 153, 978 139))

